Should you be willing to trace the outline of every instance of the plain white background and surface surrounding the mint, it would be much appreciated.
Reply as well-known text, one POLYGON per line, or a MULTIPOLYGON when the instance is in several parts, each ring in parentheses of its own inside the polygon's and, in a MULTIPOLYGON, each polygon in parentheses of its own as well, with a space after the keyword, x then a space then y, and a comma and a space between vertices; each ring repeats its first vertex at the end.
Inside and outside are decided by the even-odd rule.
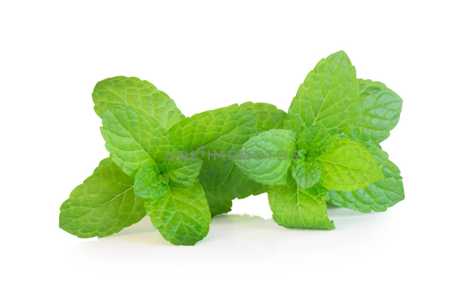
POLYGON ((2 306, 460 307, 460 7, 353 2, 3 3, 2 306), (97 81, 149 80, 187 116, 245 101, 287 110, 340 49, 404 100, 383 142, 404 201, 329 208, 334 231, 292 230, 262 194, 235 200, 194 247, 146 219, 102 239, 58 228, 61 203, 108 155, 97 81))

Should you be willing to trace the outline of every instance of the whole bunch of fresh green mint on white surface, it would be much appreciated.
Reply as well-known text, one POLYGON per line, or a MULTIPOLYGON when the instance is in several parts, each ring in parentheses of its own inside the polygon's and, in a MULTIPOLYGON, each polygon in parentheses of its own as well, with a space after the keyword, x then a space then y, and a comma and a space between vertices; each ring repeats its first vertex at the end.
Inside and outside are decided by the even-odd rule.
POLYGON ((357 79, 343 51, 317 63, 287 113, 246 102, 185 117, 156 86, 124 76, 98 82, 92 98, 109 157, 61 205, 60 228, 79 237, 147 214, 169 242, 195 245, 233 199, 264 192, 286 228, 334 229, 327 205, 385 211, 404 199, 380 146, 401 97, 357 79))

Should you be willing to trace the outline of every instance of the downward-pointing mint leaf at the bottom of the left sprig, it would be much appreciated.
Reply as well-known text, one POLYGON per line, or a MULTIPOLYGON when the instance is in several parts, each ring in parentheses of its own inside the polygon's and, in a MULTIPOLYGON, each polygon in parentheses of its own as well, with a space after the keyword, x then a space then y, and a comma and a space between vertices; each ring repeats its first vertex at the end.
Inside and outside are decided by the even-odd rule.
POLYGON ((146 200, 146 213, 167 241, 194 245, 207 236, 211 215, 201 184, 168 187, 158 200, 146 200))

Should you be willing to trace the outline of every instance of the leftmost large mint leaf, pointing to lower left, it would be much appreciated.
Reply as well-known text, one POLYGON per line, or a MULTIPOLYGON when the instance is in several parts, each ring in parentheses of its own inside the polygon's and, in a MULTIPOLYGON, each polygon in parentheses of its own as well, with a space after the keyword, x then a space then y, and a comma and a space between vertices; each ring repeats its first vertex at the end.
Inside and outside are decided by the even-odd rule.
POLYGON ((134 179, 115 163, 90 175, 61 205, 59 227, 88 238, 117 233, 146 215, 144 199, 133 192, 134 179))

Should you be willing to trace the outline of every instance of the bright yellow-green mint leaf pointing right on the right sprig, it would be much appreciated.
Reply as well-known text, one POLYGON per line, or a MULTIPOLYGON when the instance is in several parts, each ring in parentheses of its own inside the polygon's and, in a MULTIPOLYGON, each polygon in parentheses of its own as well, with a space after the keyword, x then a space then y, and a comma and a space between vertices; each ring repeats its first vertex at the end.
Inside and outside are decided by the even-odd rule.
POLYGON ((319 183, 323 187, 352 191, 383 179, 376 159, 358 141, 348 138, 333 141, 333 146, 315 160, 321 169, 319 183))

